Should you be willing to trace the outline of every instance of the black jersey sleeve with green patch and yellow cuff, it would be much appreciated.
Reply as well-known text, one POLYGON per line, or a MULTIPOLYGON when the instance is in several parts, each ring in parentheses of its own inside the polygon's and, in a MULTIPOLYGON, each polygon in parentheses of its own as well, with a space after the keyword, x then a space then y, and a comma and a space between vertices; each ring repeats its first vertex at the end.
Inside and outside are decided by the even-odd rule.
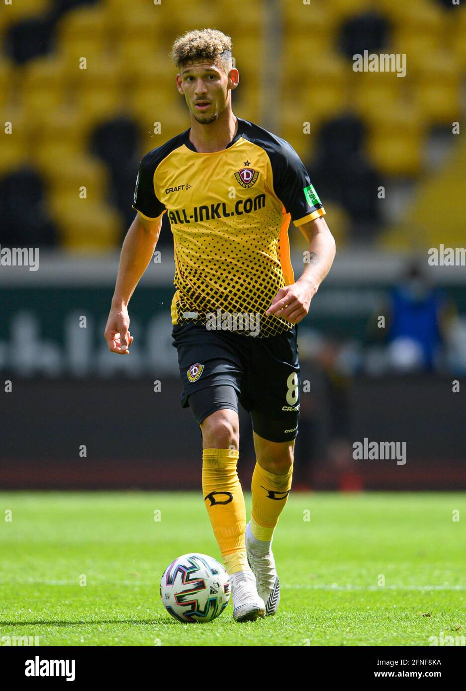
POLYGON ((293 223, 299 226, 324 216, 324 206, 295 149, 283 140, 283 146, 272 153, 270 161, 274 192, 293 223))

